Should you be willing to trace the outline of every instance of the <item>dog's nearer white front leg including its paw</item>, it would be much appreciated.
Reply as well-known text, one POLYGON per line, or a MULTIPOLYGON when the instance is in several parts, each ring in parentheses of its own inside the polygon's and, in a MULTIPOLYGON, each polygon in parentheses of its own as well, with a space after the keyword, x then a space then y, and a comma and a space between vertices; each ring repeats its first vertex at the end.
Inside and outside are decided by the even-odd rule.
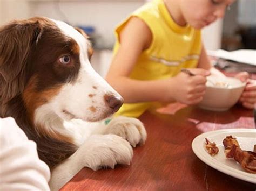
POLYGON ((56 166, 49 182, 51 190, 60 189, 83 167, 96 171, 116 164, 130 165, 133 151, 130 144, 116 135, 93 135, 85 140, 75 154, 56 166))

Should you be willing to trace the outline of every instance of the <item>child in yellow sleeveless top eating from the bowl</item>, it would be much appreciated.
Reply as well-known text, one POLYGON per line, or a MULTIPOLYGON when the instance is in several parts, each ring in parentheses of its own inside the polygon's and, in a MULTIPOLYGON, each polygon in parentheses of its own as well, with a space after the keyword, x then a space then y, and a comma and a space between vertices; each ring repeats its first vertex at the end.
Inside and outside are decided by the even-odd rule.
MULTIPOLYGON (((211 69, 201 43, 204 26, 224 16, 234 0, 153 0, 134 11, 116 29, 114 58, 106 80, 123 96, 118 115, 138 117, 159 103, 199 103, 211 69), (192 68, 195 76, 180 72, 192 68)), ((211 72, 210 72, 211 69, 211 72)), ((247 73, 240 73, 247 80, 247 73)), ((256 102, 256 86, 248 84, 241 101, 256 102)))

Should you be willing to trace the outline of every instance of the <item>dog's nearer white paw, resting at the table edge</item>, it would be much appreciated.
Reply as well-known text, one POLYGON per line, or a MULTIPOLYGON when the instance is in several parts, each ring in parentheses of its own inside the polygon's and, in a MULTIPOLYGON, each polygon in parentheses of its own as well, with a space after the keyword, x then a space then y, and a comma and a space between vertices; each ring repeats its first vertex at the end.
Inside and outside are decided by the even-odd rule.
POLYGON ((79 153, 81 150, 83 153, 83 165, 94 171, 103 167, 114 168, 116 164, 130 165, 133 156, 131 145, 122 137, 112 134, 93 135, 79 150, 79 153))

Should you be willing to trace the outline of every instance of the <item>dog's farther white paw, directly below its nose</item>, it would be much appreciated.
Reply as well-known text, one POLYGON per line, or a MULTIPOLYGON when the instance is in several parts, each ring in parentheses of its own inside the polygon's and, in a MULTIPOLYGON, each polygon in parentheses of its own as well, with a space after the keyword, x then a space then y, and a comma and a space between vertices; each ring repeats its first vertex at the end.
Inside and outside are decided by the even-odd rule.
POLYGON ((105 134, 114 134, 126 139, 133 147, 137 144, 143 145, 147 133, 142 122, 132 117, 113 118, 107 126, 105 134))

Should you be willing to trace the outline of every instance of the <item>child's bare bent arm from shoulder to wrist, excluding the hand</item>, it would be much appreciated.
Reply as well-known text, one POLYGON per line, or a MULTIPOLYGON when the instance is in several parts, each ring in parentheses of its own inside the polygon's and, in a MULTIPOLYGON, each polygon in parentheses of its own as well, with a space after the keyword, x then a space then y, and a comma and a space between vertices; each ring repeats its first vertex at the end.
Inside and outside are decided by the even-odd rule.
POLYGON ((124 97, 125 102, 159 99, 158 93, 161 94, 163 88, 159 81, 145 82, 128 77, 139 55, 150 46, 151 41, 152 35, 149 28, 136 17, 131 18, 120 33, 120 47, 114 55, 106 80, 124 97))

